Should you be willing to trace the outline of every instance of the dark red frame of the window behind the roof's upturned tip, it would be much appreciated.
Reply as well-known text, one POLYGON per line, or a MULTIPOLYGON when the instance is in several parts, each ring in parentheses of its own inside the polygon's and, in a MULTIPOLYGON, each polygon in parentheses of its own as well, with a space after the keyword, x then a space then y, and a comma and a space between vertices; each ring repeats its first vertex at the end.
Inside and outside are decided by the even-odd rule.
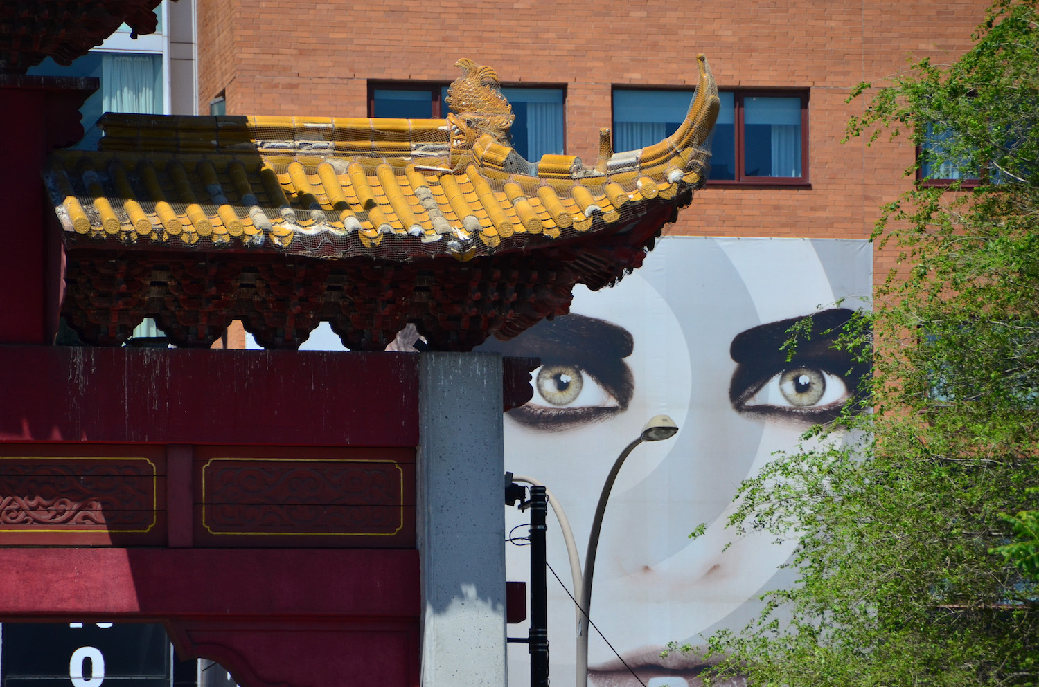
MULTIPOLYGON (((643 86, 636 84, 614 84, 610 91, 610 125, 614 127, 614 102, 613 93, 618 90, 681 90, 688 91, 692 101, 695 88, 673 85, 651 85, 643 86)), ((715 180, 708 176, 707 185, 718 188, 798 188, 810 189, 811 181, 808 175, 808 104, 811 89, 807 87, 774 87, 774 86, 718 86, 719 92, 732 93, 734 107, 734 155, 736 161, 735 180, 715 180), (745 97, 765 98, 800 98, 801 99, 801 175, 800 176, 747 176, 743 173, 744 165, 744 139, 743 131, 743 99, 745 97)))

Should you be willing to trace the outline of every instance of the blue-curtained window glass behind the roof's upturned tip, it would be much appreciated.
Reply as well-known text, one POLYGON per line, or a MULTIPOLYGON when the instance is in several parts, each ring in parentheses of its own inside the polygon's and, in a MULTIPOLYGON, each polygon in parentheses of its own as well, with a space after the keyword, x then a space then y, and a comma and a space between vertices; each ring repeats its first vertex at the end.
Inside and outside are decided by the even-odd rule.
MULTIPOLYGON (((709 183, 808 182, 808 91, 722 90, 709 183)), ((613 147, 635 150, 682 125, 692 90, 615 88, 613 147)))

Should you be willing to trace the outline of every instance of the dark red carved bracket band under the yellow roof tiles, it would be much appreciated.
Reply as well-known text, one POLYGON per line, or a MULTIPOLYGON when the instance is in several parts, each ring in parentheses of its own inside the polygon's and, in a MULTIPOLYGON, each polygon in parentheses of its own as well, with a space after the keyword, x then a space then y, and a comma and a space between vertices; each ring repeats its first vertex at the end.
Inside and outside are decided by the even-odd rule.
POLYGON ((209 347, 240 320, 266 349, 297 349, 328 322, 354 351, 385 350, 408 323, 433 350, 470 351, 490 335, 509 338, 567 312, 582 274, 595 287, 615 279, 611 251, 625 259, 638 253, 563 247, 462 265, 402 265, 75 247, 62 312, 84 342, 100 346, 122 345, 153 318, 174 345, 187 348, 209 347))

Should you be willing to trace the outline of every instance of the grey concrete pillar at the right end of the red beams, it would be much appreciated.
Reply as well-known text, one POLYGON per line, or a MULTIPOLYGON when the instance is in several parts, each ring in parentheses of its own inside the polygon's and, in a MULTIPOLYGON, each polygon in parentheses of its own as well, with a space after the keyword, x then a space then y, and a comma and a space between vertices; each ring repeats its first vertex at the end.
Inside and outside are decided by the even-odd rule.
POLYGON ((419 394, 422 687, 504 687, 502 358, 423 353, 419 394))

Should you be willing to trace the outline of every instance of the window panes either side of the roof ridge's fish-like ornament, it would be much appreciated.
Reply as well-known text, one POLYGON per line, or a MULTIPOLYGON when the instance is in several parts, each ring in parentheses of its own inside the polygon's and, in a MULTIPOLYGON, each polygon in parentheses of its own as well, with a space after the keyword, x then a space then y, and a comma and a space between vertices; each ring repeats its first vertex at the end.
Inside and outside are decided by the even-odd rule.
MULTIPOLYGON (((448 87, 444 84, 373 84, 369 87, 369 115, 425 119, 447 116, 448 87)), ((527 160, 561 155, 565 149, 562 88, 502 88, 512 106, 512 145, 527 160)))

